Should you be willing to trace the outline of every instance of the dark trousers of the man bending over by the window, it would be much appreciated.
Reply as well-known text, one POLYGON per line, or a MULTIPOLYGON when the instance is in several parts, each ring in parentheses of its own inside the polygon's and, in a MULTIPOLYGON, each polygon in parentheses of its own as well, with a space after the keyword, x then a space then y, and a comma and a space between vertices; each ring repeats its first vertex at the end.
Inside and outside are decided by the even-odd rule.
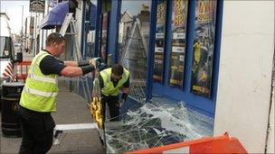
POLYGON ((119 95, 102 95, 103 117, 105 119, 106 104, 109 106, 110 121, 119 121, 119 95))

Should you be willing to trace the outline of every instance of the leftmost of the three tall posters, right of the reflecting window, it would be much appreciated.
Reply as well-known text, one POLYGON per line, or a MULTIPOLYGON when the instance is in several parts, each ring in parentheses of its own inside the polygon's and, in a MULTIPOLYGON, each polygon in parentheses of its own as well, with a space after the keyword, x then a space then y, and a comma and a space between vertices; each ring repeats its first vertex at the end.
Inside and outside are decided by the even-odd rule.
POLYGON ((154 81, 163 80, 166 32, 166 0, 157 0, 154 81))

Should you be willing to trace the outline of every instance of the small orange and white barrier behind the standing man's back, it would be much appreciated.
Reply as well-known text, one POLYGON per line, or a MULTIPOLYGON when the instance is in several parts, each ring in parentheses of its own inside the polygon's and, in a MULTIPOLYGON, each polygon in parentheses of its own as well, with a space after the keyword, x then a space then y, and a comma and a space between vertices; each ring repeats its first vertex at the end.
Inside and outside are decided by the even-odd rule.
POLYGON ((28 77, 28 71, 32 61, 22 61, 17 64, 17 74, 16 78, 18 80, 24 80, 28 77))

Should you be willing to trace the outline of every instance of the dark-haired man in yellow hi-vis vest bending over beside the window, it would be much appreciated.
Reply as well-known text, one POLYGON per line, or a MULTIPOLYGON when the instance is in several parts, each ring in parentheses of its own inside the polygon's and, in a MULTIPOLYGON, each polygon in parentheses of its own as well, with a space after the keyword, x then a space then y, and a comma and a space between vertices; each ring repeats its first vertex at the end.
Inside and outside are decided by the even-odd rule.
POLYGON ((130 91, 129 71, 119 64, 115 64, 112 68, 101 70, 100 88, 103 115, 105 115, 106 104, 108 104, 110 121, 118 121, 120 105, 126 101, 130 91), (122 92, 120 98, 119 89, 122 92))

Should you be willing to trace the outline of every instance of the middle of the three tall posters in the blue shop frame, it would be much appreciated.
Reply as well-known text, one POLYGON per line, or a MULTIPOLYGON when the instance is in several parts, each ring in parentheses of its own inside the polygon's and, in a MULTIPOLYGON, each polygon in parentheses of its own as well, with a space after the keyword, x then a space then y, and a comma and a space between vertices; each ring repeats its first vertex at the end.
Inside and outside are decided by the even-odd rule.
POLYGON ((172 46, 170 65, 170 86, 182 88, 184 86, 185 69, 185 39, 188 12, 188 1, 173 1, 172 12, 172 46))

